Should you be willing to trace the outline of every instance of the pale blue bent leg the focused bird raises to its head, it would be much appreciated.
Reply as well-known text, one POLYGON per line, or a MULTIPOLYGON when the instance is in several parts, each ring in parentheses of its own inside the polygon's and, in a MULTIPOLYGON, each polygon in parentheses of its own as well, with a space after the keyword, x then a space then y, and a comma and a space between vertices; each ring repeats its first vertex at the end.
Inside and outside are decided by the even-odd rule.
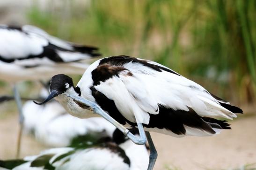
POLYGON ((112 123, 114 126, 117 127, 117 129, 119 129, 122 133, 124 133, 124 135, 128 136, 132 140, 132 142, 139 145, 143 145, 146 143, 146 135, 145 135, 145 131, 143 129, 142 123, 138 123, 139 137, 134 136, 128 129, 126 129, 123 125, 121 125, 111 116, 109 116, 109 114, 107 114, 104 110, 102 110, 101 107, 95 102, 88 101, 79 96, 73 96, 73 95, 67 95, 67 96, 71 97, 73 101, 76 102, 80 107, 84 109, 92 110, 96 114, 102 116, 104 119, 112 123))

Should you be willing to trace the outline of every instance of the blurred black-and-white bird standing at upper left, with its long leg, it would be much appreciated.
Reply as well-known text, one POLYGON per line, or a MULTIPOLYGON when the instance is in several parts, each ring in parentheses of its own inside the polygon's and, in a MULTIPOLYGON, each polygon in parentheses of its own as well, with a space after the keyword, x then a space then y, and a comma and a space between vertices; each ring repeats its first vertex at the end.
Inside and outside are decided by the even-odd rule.
MULTIPOLYGON (((20 113, 19 136, 24 117, 15 83, 25 80, 48 80, 59 73, 82 74, 89 64, 79 61, 88 61, 99 56, 97 49, 60 40, 31 25, 0 25, 0 80, 14 84, 15 101, 20 113)), ((17 155, 19 143, 20 137, 17 155)))

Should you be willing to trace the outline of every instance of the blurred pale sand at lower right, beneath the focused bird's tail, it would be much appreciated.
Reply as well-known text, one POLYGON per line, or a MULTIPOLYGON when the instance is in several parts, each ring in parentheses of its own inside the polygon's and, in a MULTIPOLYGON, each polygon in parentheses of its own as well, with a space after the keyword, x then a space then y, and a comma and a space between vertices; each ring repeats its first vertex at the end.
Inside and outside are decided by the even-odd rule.
MULTIPOLYGON (((154 133, 156 170, 220 170, 256 163, 256 115, 230 122, 232 130, 212 137, 174 138, 154 133)), ((256 165, 255 165, 256 166, 256 165)))

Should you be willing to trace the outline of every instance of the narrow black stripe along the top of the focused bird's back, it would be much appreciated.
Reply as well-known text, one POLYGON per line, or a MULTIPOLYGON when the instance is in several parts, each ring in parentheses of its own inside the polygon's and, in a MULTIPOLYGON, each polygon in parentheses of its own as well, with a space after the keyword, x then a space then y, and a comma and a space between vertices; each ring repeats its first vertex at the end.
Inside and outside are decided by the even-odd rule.
POLYGON ((146 60, 139 60, 137 58, 129 57, 129 56, 126 56, 126 55, 119 55, 119 56, 112 56, 112 57, 108 57, 108 58, 103 58, 100 61, 99 65, 108 63, 112 66, 119 66, 120 67, 120 66, 123 66, 125 63, 128 63, 128 62, 140 63, 143 66, 146 66, 148 68, 152 68, 152 69, 154 69, 156 71, 159 71, 159 72, 164 70, 164 71, 173 73, 175 75, 179 75, 176 72, 172 71, 171 69, 164 68, 164 67, 161 67, 161 66, 158 66, 158 65, 155 65, 155 64, 151 64, 151 63, 148 63, 148 61, 146 61, 146 60))

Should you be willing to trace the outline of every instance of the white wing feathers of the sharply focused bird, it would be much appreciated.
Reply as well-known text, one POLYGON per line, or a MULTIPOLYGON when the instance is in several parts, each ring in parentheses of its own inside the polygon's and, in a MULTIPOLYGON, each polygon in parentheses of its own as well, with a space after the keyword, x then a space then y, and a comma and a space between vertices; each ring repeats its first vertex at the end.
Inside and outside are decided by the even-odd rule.
POLYGON ((137 122, 147 124, 148 113, 158 114, 159 104, 174 110, 189 111, 191 108, 200 116, 221 116, 228 119, 236 117, 219 105, 219 101, 205 88, 183 76, 164 70, 159 72, 135 62, 124 64, 124 68, 132 76, 127 75, 128 71, 122 71, 118 74, 119 77, 114 76, 101 82, 96 89, 113 100, 117 109, 128 120, 134 113, 137 122))

